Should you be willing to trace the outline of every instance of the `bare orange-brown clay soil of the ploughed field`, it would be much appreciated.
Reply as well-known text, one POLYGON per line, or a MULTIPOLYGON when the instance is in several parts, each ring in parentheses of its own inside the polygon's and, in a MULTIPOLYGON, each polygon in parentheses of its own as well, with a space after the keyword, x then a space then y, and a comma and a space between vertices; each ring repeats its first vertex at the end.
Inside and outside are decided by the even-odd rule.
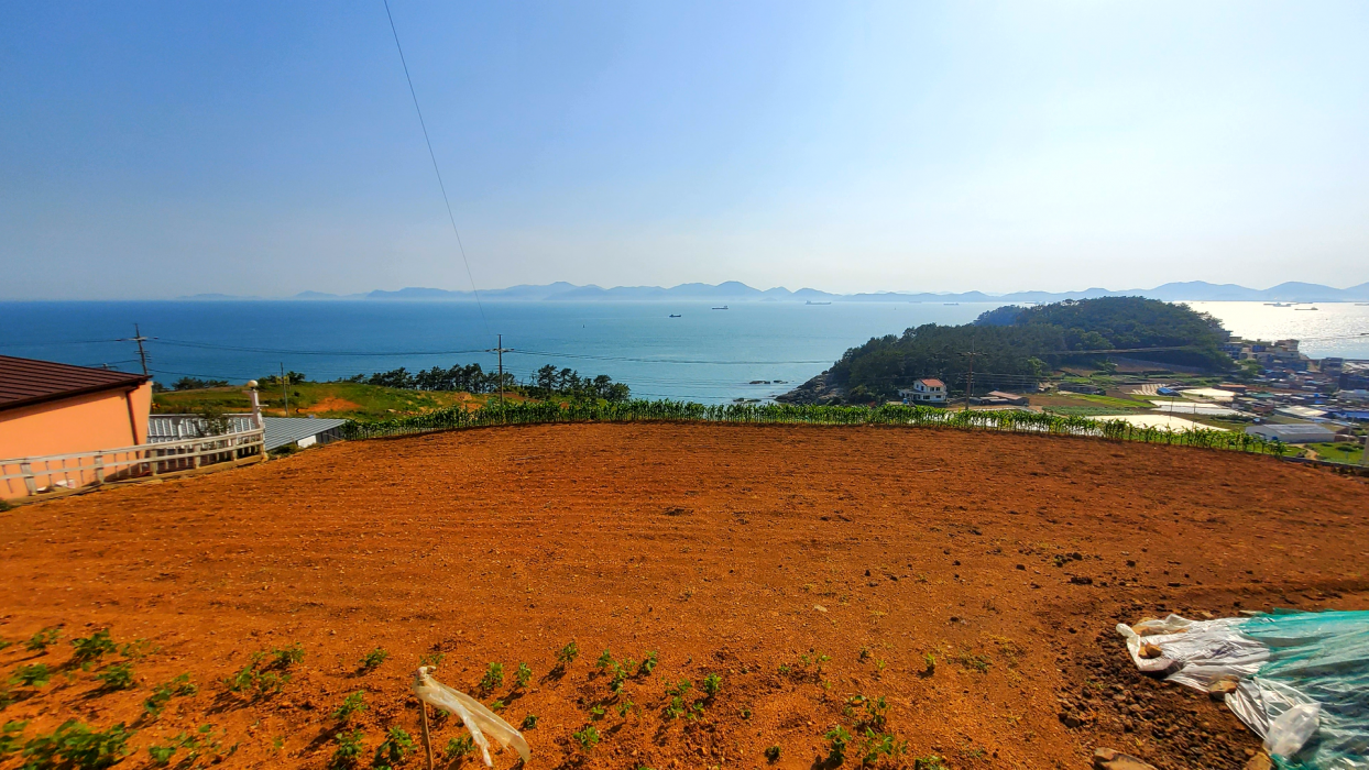
MULTIPOLYGON (((389 728, 418 740, 409 681, 441 654, 437 677, 471 693, 502 663, 481 698, 515 726, 537 714, 534 767, 764 767, 780 747, 775 765, 806 769, 834 725, 867 718, 845 707, 857 693, 886 698, 906 741, 886 766, 1086 767, 1108 745, 1239 767, 1258 741, 1220 703, 1136 674, 1113 626, 1366 607, 1366 501, 1362 481, 1262 457, 934 429, 582 424, 338 443, 0 514, 0 639, 63 633, 42 654, 0 651, 5 676, 62 666, 71 639, 103 628, 156 646, 134 689, 99 689, 123 659, 111 654, 11 685, 0 721, 29 719, 25 740, 68 718, 126 722, 134 767, 212 723, 220 751, 235 747, 227 766, 324 767, 333 711, 363 691, 352 723, 370 767, 389 728), (579 658, 556 672, 571 640, 579 658), (304 661, 281 692, 225 685, 293 643, 304 661), (375 648, 389 658, 360 670, 375 648), (658 665, 615 696, 604 650, 658 665), (199 693, 140 718, 181 673, 199 693), (709 674, 721 688, 704 698, 709 674), (585 725, 589 749, 571 734, 585 725)), ((464 734, 434 725, 438 766, 464 734)))

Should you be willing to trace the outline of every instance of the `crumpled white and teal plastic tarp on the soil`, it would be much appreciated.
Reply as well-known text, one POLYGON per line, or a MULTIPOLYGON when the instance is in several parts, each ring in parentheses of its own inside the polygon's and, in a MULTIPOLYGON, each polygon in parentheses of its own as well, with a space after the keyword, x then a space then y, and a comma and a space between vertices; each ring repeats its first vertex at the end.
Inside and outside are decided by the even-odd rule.
POLYGON ((1284 770, 1369 770, 1369 611, 1118 625, 1142 672, 1209 692, 1284 770))

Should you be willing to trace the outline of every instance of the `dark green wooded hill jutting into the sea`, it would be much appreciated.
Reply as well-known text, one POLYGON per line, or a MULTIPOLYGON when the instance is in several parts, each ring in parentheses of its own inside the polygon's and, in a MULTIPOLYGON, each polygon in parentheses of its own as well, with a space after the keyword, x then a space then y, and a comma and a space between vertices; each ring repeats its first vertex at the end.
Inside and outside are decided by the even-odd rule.
POLYGON ((1009 305, 983 313, 973 324, 924 324, 902 335, 872 338, 782 399, 883 401, 919 377, 939 377, 964 391, 972 351, 982 375, 976 393, 1035 382, 1066 365, 1098 364, 1110 350, 1224 372, 1233 367, 1221 351, 1228 336, 1210 316, 1140 297, 1009 305))

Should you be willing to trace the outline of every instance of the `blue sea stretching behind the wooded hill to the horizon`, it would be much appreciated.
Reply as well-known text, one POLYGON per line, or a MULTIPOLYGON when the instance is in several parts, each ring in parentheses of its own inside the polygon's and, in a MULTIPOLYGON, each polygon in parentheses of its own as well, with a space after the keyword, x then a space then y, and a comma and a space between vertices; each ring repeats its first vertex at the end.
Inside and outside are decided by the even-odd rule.
MULTIPOLYGON (((546 364, 609 375, 642 398, 767 401, 872 336, 962 324, 997 302, 0 302, 0 354, 242 383, 286 371, 331 380, 478 362, 520 379, 546 364)), ((1232 332, 1302 341, 1314 358, 1369 358, 1369 306, 1188 302, 1232 332)))

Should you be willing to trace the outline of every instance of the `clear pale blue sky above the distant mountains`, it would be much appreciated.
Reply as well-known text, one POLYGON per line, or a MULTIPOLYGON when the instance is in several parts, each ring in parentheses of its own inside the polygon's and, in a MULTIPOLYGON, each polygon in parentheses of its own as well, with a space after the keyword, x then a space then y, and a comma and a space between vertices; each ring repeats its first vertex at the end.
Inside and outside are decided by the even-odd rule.
MULTIPOLYGON (((418 3, 482 289, 1369 280, 1369 3, 418 3)), ((0 298, 470 289, 381 0, 5 3, 0 298)))

